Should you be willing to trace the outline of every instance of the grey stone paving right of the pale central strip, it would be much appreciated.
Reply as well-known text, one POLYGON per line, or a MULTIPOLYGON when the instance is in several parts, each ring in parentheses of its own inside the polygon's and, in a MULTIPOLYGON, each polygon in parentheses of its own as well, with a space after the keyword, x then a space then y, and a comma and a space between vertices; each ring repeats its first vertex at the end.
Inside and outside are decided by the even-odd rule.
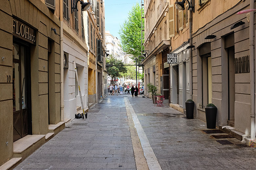
POLYGON ((148 98, 128 98, 163 170, 256 169, 256 149, 235 145, 242 144, 235 138, 215 139, 202 132, 207 128, 201 120, 186 119, 172 108, 154 107, 148 98))

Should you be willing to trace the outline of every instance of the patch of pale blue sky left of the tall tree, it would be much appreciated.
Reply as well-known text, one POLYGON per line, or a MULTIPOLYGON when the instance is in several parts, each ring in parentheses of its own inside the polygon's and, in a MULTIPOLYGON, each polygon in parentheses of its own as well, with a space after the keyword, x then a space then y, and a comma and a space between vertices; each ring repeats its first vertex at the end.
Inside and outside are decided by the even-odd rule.
POLYGON ((106 31, 120 39, 118 34, 120 25, 127 19, 128 12, 139 0, 105 0, 105 28, 106 31))

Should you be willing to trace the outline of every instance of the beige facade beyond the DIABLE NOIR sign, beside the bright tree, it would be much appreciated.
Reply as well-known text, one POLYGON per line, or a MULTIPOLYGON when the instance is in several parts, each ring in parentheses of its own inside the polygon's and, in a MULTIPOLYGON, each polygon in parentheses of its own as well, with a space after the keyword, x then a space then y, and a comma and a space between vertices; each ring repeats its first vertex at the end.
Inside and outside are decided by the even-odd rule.
POLYGON ((145 95, 147 84, 152 83, 169 99, 169 65, 167 54, 170 49, 169 2, 166 0, 145 1, 145 42, 144 49, 148 55, 143 60, 145 95))

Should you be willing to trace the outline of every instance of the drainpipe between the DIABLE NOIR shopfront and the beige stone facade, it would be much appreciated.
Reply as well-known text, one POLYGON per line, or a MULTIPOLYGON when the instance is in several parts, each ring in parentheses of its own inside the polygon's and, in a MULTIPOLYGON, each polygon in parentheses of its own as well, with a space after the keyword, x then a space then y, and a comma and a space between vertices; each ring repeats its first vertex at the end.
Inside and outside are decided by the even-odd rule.
MULTIPOLYGON (((190 0, 192 4, 193 0, 190 0)), ((192 10, 188 12, 188 22, 189 22, 189 45, 192 45, 192 10)), ((192 99, 193 95, 193 85, 192 85, 192 48, 189 49, 189 98, 192 99)))

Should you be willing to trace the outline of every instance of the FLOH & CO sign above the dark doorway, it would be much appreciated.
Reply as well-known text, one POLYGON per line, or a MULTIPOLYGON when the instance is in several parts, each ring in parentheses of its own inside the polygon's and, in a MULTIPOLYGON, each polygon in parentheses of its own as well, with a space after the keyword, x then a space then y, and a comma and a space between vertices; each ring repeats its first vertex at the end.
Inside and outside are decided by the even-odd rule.
POLYGON ((18 37, 22 40, 30 42, 32 44, 36 44, 36 36, 35 30, 29 27, 28 25, 18 21, 16 19, 12 19, 12 35, 18 37))

